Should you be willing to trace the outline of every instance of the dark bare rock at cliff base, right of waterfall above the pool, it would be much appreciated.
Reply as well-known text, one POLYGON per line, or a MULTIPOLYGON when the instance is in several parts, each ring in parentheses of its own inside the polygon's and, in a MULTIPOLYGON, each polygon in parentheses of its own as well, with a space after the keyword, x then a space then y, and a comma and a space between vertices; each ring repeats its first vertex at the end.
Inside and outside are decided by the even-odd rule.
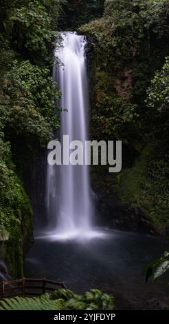
MULTIPOLYGON (((95 186, 93 185, 93 188, 95 186)), ((103 188, 95 188, 97 221, 100 225, 125 232, 142 232, 165 236, 167 230, 157 227, 142 209, 122 201, 113 193, 107 194, 103 188)))

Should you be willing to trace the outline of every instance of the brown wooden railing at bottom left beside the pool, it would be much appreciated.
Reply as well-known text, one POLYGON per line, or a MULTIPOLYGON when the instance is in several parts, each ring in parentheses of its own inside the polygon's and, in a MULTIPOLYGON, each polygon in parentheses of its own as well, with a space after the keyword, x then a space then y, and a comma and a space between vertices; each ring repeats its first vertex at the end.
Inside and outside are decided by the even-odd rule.
POLYGON ((46 292, 54 292, 58 287, 66 288, 65 283, 47 279, 19 279, 14 281, 2 281, 0 283, 0 298, 16 296, 41 296, 46 292))

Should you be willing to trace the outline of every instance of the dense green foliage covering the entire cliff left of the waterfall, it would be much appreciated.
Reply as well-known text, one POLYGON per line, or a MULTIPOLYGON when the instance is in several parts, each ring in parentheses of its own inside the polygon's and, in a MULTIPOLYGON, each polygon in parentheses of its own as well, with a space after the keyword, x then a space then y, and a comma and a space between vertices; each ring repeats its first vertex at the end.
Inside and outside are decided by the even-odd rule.
POLYGON ((22 245, 32 240, 23 181, 59 126, 60 91, 51 68, 63 2, 0 2, 0 241, 6 241, 3 254, 12 276, 23 274, 22 245))

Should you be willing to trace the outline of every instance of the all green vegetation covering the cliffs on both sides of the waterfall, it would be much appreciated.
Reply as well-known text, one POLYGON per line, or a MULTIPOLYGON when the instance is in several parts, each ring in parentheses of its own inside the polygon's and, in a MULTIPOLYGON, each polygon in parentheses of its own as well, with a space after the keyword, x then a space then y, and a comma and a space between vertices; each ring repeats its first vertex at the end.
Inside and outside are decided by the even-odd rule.
POLYGON ((123 142, 122 172, 92 168, 94 189, 106 193, 104 206, 134 207, 168 233, 168 0, 0 0, 0 8, 0 252, 10 274, 23 275, 32 241, 27 172, 59 128, 51 77, 59 30, 89 39, 91 139, 123 142))

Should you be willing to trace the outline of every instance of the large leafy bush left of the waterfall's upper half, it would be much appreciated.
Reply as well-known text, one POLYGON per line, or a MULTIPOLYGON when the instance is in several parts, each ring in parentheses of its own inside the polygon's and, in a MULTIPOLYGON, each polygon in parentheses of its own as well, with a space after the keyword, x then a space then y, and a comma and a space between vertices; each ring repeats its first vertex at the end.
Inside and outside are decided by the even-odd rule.
POLYGON ((15 60, 5 75, 3 94, 2 108, 8 113, 3 124, 8 136, 25 136, 46 143, 52 130, 58 128, 55 103, 60 99, 49 69, 39 68, 30 61, 15 60))

